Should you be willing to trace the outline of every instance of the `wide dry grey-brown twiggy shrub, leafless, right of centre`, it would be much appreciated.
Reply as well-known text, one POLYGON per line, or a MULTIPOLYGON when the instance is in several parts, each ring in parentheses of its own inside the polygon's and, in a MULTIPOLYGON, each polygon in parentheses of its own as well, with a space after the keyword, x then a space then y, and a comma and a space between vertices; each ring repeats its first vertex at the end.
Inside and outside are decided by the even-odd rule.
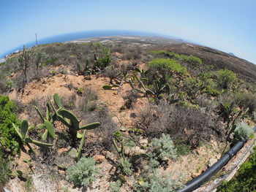
POLYGON ((170 134, 173 141, 180 140, 191 147, 200 142, 224 137, 221 129, 214 127, 211 115, 191 107, 170 105, 161 101, 158 106, 148 105, 140 112, 139 126, 151 137, 159 137, 162 133, 170 134))

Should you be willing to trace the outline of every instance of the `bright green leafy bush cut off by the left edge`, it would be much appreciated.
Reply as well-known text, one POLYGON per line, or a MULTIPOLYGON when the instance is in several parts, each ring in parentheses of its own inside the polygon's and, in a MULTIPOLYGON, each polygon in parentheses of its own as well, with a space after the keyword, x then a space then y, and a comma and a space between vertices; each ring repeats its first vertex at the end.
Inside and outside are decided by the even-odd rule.
POLYGON ((0 144, 7 152, 14 155, 18 152, 18 135, 12 123, 19 126, 20 122, 15 115, 16 106, 8 96, 0 96, 0 144))

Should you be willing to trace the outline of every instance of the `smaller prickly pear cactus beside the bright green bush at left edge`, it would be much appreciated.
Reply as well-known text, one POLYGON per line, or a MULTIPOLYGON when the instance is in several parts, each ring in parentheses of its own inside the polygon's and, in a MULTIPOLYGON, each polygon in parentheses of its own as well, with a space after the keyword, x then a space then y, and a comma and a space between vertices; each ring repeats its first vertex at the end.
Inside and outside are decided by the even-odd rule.
POLYGON ((37 145, 39 147, 52 147, 53 146, 53 144, 45 143, 45 142, 39 142, 39 141, 36 141, 34 139, 31 139, 30 137, 26 137, 26 133, 27 133, 28 128, 29 128, 29 123, 28 123, 27 120, 23 120, 21 122, 20 128, 15 126, 14 123, 12 123, 12 126, 15 128, 15 131, 18 134, 18 136, 20 137, 20 140, 29 147, 29 150, 32 153, 35 153, 35 151, 31 147, 31 145, 29 145, 29 143, 33 143, 34 145, 37 145))

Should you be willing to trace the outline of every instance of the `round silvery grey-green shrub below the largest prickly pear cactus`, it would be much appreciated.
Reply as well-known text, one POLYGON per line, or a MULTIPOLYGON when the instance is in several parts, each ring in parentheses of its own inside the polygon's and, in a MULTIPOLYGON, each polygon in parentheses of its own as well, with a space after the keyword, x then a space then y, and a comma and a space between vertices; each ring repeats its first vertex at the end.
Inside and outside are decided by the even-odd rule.
POLYGON ((95 180, 94 174, 97 166, 93 158, 80 158, 80 160, 67 169, 67 179, 75 186, 88 186, 95 180))

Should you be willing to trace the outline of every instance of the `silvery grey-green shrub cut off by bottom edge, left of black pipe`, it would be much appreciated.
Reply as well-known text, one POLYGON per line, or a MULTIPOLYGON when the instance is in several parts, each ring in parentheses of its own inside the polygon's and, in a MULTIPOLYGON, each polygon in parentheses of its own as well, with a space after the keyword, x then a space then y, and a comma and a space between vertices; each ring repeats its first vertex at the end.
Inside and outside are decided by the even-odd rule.
POLYGON ((181 187, 181 183, 178 180, 172 180, 170 174, 159 174, 158 170, 154 170, 151 174, 145 174, 135 184, 136 192, 172 192, 175 189, 181 187))

